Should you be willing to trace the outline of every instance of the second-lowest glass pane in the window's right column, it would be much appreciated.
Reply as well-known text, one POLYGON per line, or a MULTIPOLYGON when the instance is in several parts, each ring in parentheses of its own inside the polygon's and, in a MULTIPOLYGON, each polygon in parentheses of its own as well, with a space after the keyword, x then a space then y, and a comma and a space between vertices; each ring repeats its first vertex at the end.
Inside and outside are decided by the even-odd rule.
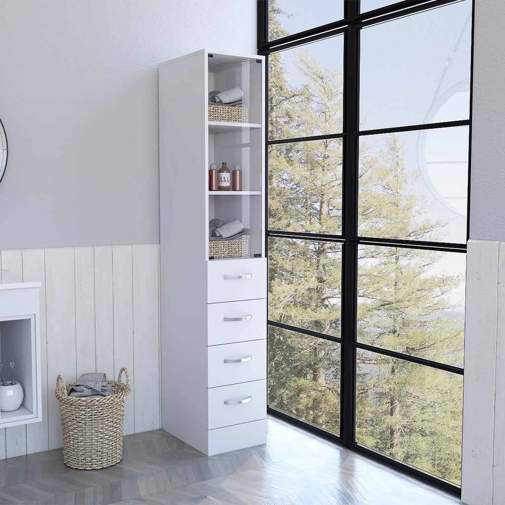
POLYGON ((358 341, 463 366, 466 255, 362 245, 358 341))

